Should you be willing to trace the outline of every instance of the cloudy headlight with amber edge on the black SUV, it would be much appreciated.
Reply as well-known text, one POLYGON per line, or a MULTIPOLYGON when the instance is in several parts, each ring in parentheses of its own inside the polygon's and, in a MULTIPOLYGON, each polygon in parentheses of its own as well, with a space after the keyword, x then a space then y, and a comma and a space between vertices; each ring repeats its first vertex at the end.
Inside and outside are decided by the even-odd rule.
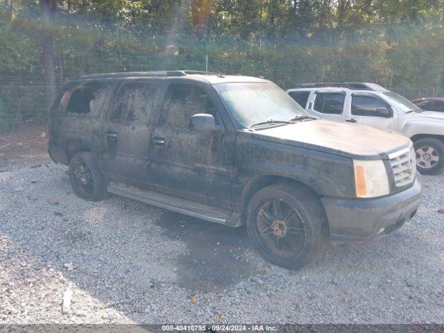
POLYGON ((355 188, 359 198, 373 198, 390 194, 388 176, 382 160, 353 160, 355 188))

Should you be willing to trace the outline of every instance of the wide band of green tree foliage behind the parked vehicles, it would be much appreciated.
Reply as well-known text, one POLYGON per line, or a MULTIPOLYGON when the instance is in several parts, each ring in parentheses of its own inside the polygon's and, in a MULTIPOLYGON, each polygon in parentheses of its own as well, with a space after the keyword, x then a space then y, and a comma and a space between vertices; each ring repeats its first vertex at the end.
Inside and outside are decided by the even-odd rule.
POLYGON ((207 55, 211 71, 260 75, 282 87, 364 80, 414 97, 433 94, 444 76, 444 0, 51 3, 50 26, 40 21, 38 1, 0 6, 0 74, 41 76, 39 45, 51 35, 54 67, 67 78, 205 69, 207 55))

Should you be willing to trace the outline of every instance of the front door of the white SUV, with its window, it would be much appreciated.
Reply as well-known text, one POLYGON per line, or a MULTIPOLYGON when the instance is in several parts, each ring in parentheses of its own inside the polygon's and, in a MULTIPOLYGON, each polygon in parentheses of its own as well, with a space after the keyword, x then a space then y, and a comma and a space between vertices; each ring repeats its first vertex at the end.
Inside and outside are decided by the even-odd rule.
POLYGON ((370 93, 352 93, 346 121, 361 125, 398 130, 398 113, 386 101, 370 93), (388 114, 379 114, 377 108, 388 109, 388 114))

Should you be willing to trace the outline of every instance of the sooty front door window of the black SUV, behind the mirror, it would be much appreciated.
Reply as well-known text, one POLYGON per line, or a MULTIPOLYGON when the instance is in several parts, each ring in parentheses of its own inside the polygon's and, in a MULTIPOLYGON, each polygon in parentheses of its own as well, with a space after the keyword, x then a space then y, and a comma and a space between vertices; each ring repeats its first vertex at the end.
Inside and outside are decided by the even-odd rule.
POLYGON ((160 125, 188 129, 189 119, 198 113, 212 114, 220 124, 216 108, 203 89, 182 83, 169 85, 160 111, 160 125))

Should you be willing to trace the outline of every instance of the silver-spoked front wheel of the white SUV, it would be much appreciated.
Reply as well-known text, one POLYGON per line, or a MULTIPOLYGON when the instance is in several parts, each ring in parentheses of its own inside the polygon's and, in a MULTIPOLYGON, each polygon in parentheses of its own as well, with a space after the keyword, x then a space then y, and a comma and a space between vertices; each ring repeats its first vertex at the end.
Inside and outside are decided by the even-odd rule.
POLYGON ((444 142, 425 137, 414 142, 418 171, 425 175, 441 173, 444 167, 444 142))

